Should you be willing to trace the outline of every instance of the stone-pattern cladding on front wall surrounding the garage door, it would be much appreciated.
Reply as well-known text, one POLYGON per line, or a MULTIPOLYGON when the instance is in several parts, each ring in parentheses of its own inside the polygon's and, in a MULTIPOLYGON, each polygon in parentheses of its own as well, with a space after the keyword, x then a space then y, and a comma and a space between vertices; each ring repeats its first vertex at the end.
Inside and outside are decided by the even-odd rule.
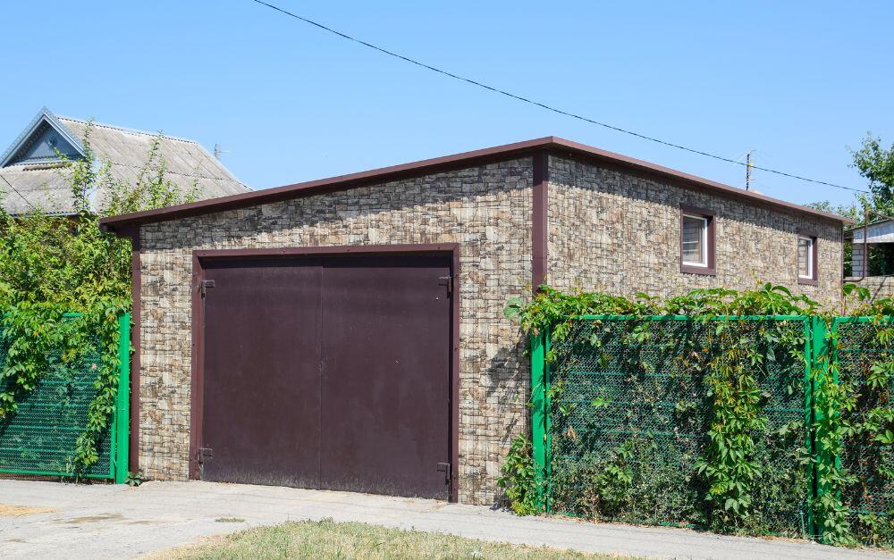
POLYGON ((529 368, 502 309, 530 289, 531 169, 521 158, 143 225, 142 472, 188 477, 194 249, 459 243, 460 501, 492 503, 510 439, 527 428, 529 368))

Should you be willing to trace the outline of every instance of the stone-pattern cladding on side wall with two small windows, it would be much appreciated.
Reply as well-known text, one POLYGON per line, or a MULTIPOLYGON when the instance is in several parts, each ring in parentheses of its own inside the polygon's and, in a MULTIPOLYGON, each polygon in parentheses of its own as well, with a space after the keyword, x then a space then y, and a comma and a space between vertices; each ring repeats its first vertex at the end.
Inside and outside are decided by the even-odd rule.
POLYGON ((837 309, 841 224, 550 156, 548 281, 627 296, 785 285, 837 309), (680 205, 716 213, 716 276, 680 272, 680 205), (798 229, 818 237, 817 286, 797 283, 798 229))

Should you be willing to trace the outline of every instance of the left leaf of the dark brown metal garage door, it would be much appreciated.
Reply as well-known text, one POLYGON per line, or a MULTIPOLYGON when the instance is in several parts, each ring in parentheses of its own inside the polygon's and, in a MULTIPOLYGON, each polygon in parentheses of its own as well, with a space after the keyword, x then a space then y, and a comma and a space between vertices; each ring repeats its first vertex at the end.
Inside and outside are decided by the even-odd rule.
POLYGON ((202 480, 319 486, 320 265, 205 266, 202 480))

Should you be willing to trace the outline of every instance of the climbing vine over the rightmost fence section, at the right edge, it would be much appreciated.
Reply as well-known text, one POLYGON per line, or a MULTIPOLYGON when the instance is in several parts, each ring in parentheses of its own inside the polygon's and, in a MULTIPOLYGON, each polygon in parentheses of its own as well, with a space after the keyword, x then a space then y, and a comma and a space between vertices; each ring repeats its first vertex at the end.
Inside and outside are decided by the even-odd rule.
POLYGON ((894 547, 894 300, 845 286, 862 321, 829 329, 814 378, 821 539, 894 547))

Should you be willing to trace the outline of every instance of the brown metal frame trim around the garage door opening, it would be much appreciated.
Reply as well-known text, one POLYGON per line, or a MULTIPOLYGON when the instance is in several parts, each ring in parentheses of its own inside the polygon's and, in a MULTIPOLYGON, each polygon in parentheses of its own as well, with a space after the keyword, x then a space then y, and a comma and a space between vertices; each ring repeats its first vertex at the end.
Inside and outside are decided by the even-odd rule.
POLYGON ((451 255, 454 288, 451 297, 451 402, 450 402, 450 457, 451 484, 449 499, 456 502, 460 497, 460 292, 457 282, 460 278, 460 244, 395 244, 395 245, 354 245, 339 247, 283 247, 276 249, 211 249, 192 252, 192 380, 190 383, 190 479, 200 476, 198 469, 198 448, 202 445, 202 414, 204 411, 205 376, 205 305, 199 295, 198 286, 205 278, 203 263, 207 260, 227 258, 270 258, 274 256, 302 255, 412 255, 441 253, 451 255))

